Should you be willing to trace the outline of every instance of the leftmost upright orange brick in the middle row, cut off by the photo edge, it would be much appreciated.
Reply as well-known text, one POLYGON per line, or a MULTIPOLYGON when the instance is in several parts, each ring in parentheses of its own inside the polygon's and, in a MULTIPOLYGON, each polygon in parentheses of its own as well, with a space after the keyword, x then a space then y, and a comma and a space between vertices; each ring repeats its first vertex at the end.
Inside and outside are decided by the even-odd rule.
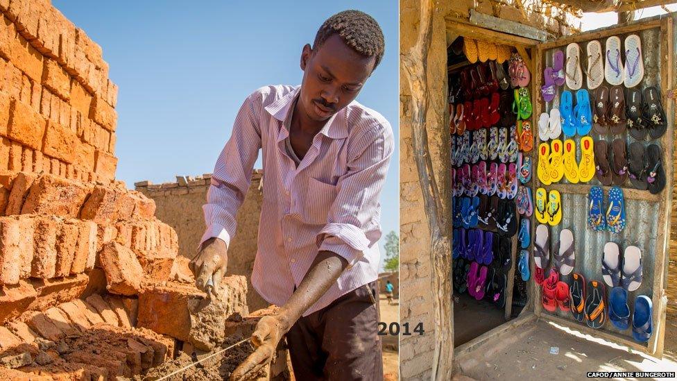
POLYGON ((19 221, 0 217, 0 285, 16 285, 21 274, 19 221))

